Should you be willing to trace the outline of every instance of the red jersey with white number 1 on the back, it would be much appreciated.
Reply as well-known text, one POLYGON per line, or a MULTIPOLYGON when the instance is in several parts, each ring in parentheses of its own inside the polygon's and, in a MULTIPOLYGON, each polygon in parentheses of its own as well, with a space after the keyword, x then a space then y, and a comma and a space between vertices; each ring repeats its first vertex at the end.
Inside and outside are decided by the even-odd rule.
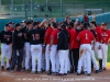
POLYGON ((80 42, 80 44, 91 44, 95 36, 89 30, 84 30, 78 34, 77 39, 80 42))

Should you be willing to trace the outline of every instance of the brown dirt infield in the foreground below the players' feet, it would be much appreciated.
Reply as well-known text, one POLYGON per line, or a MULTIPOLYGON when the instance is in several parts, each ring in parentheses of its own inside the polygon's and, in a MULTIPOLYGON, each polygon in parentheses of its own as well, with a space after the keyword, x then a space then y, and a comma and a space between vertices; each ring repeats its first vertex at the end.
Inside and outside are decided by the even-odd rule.
POLYGON ((68 74, 66 77, 31 74, 28 72, 0 71, 0 82, 110 82, 110 67, 107 71, 88 75, 68 74))

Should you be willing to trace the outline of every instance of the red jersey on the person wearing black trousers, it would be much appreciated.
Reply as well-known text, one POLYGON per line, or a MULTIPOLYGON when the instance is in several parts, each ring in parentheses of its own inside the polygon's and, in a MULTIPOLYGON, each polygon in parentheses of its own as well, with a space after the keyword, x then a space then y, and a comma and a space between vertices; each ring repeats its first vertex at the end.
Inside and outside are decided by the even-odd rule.
POLYGON ((76 32, 75 28, 72 28, 70 30, 70 38, 69 38, 69 48, 73 49, 73 48, 79 48, 79 44, 76 39, 77 35, 78 35, 78 32, 76 32))

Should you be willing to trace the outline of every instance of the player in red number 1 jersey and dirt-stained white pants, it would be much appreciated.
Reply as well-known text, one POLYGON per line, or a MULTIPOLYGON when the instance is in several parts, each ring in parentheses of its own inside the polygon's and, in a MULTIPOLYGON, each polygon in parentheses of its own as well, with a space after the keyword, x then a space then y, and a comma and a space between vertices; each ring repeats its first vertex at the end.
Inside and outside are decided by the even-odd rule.
POLYGON ((88 30, 88 23, 86 22, 84 23, 84 28, 85 30, 81 31, 77 36, 77 40, 80 43, 77 75, 80 75, 84 59, 86 59, 87 74, 90 75, 91 73, 90 44, 91 44, 91 40, 95 39, 95 37, 94 37, 94 34, 88 30))

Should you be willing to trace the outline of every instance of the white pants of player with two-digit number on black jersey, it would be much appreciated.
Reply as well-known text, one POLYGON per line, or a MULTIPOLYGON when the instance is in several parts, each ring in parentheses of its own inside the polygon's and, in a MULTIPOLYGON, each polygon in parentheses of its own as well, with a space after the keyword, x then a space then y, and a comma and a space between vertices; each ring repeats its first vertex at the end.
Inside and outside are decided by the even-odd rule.
POLYGON ((36 60, 37 60, 37 72, 41 71, 41 59, 42 59, 42 45, 31 45, 32 54, 32 71, 36 71, 36 60))

